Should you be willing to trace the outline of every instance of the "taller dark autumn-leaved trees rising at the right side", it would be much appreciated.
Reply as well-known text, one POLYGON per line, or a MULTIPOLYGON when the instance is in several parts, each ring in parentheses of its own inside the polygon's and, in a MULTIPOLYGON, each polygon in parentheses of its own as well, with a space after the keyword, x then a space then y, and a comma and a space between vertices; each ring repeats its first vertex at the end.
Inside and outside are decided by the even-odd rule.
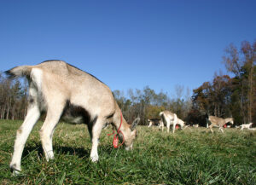
POLYGON ((227 72, 215 73, 212 82, 205 82, 192 95, 189 119, 200 124, 207 115, 233 117, 235 124, 256 122, 256 41, 241 43, 240 49, 230 44, 225 49, 223 63, 227 72))

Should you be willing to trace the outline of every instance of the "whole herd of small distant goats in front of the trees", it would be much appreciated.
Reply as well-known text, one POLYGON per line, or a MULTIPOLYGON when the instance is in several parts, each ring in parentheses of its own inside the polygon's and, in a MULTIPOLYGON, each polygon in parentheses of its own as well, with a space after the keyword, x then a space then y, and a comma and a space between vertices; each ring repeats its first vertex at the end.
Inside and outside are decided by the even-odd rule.
MULTIPOLYGON (((172 132, 174 133, 176 128, 185 129, 190 126, 189 124, 185 125, 185 122, 182 119, 178 119, 176 113, 172 113, 170 111, 163 111, 160 112, 159 115, 160 119, 148 119, 148 127, 151 127, 152 125, 157 125, 159 129, 163 131, 166 125, 167 132, 169 132, 170 126, 172 125, 172 132)), ((222 119, 216 116, 209 116, 209 118, 207 118, 207 128, 209 128, 212 131, 212 134, 212 127, 218 127, 218 130, 221 130, 224 133, 224 128, 230 127, 230 125, 227 126, 228 123, 234 124, 233 118, 222 119)), ((241 128, 241 130, 255 130, 252 128, 252 125, 253 123, 241 124, 240 126, 236 126, 236 128, 241 128)), ((198 124, 195 124, 193 126, 198 127, 198 124)))

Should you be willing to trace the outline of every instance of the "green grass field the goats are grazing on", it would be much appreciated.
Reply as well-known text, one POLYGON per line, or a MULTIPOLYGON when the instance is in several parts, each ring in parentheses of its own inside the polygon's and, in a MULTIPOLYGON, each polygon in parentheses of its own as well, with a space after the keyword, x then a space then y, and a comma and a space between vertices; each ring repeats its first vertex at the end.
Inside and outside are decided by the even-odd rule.
POLYGON ((102 131, 100 160, 90 162, 85 125, 61 123, 55 130, 55 160, 46 162, 38 123, 26 142, 20 176, 9 171, 21 121, 0 121, 0 184, 256 184, 256 131, 205 128, 174 135, 138 126, 134 150, 112 147, 102 131), (216 129, 217 130, 217 129, 216 129))

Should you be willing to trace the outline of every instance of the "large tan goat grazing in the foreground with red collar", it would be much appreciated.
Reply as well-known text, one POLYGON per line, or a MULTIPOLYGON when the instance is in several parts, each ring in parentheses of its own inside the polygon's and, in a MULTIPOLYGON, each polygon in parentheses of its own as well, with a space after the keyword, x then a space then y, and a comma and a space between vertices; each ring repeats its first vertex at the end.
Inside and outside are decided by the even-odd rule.
MULTIPOLYGON (((46 112, 40 137, 47 160, 54 159, 52 136, 59 120, 66 119, 75 124, 87 124, 92 142, 90 159, 98 160, 98 140, 102 128, 113 124, 120 125, 120 109, 111 90, 94 76, 83 72, 64 61, 44 61, 36 66, 16 66, 6 72, 10 78, 26 76, 29 82, 28 111, 26 119, 17 130, 10 168, 20 171, 21 155, 34 124, 40 114, 46 112)), ((132 149, 136 137, 133 124, 125 119, 120 130, 125 137, 125 149, 132 149)))

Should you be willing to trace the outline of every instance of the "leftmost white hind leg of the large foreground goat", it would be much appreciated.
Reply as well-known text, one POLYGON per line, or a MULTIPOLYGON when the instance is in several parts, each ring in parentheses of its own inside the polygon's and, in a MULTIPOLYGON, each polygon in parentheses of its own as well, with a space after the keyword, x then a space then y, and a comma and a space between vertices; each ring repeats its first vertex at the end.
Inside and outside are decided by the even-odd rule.
POLYGON ((15 140, 15 148, 14 154, 10 163, 11 171, 15 173, 19 173, 20 171, 20 161, 21 155, 33 126, 37 123, 40 117, 39 107, 36 103, 29 106, 26 119, 24 120, 23 124, 21 124, 20 129, 17 130, 16 140, 15 140))

